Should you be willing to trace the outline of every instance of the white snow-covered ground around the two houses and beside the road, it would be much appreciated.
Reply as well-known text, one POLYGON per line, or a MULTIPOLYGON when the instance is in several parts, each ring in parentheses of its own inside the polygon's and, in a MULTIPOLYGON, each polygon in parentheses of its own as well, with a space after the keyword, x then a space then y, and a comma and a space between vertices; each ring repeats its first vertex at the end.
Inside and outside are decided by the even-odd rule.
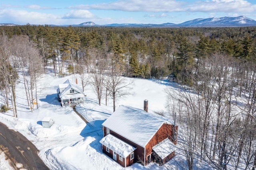
MULTIPOLYGON (((102 153, 100 140, 103 137, 102 123, 113 113, 112 101, 102 99, 102 105, 98 105, 96 95, 91 91, 89 85, 85 87, 85 103, 76 107, 76 110, 89 121, 84 123, 76 115, 71 107, 61 107, 57 100, 56 89, 58 84, 64 83, 67 79, 75 81, 81 86, 79 75, 66 77, 55 77, 51 73, 45 74, 38 85, 38 105, 39 108, 31 112, 27 107, 24 85, 16 85, 16 103, 18 106, 18 118, 13 117, 13 112, 0 113, 0 122, 9 128, 22 133, 28 140, 40 150, 39 156, 45 164, 52 170, 146 170, 164 169, 158 164, 150 164, 146 167, 135 163, 128 168, 123 168, 114 160, 102 153), (55 123, 50 128, 42 127, 42 119, 51 117, 55 123)), ((148 100, 148 112, 166 112, 167 87, 175 90, 174 84, 168 81, 155 81, 153 79, 131 79, 133 95, 128 95, 117 100, 116 106, 128 105, 143 109, 144 99, 148 100)), ((0 101, 4 101, 3 97, 0 101)), ((3 103, 0 103, 3 104, 3 103)), ((179 144, 177 144, 179 148, 179 144)), ((176 150, 176 154, 179 154, 176 150)), ((176 156, 168 162, 172 169, 178 169, 176 160, 184 163, 184 157, 176 156)), ((0 154, 0 170, 8 169, 3 154, 0 154)))

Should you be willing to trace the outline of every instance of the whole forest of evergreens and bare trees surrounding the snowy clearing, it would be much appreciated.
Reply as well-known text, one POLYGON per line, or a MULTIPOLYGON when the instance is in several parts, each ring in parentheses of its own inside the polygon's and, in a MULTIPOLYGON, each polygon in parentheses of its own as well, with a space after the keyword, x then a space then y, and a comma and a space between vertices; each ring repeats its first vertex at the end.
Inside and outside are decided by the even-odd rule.
POLYGON ((24 76, 30 106, 36 98, 32 89, 48 65, 54 66, 56 76, 78 73, 83 80, 84 73, 92 73, 99 104, 104 93, 111 93, 115 101, 115 85, 123 83, 116 77, 168 77, 183 89, 167 94, 170 113, 177 113, 179 125, 186 130, 181 141, 188 168, 193 169, 196 160, 206 160, 216 169, 255 169, 256 27, 27 24, 1 26, 0 34, 0 88, 7 107, 12 91, 8 85, 15 88, 17 71, 24 76), (112 79, 104 82, 105 74, 112 79))

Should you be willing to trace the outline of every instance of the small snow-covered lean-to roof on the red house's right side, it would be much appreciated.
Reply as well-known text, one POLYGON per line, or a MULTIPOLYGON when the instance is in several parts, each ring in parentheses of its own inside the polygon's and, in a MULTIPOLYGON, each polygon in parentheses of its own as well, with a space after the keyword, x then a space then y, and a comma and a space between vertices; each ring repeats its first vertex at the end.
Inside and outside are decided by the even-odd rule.
POLYGON ((161 159, 166 158, 169 154, 171 154, 175 150, 176 146, 174 143, 166 138, 159 144, 153 146, 153 150, 160 156, 161 159))

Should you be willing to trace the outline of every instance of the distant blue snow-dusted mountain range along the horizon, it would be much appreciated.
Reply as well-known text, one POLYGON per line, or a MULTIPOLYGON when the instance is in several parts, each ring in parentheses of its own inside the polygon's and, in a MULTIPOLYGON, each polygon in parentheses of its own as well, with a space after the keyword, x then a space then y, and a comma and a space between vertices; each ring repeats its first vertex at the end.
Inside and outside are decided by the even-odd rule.
MULTIPOLYGON (((16 26, 18 24, 0 24, 0 26, 16 26)), ((69 25, 49 25, 49 26, 69 26, 69 25)), ((221 17, 221 18, 197 18, 180 24, 163 23, 163 24, 105 24, 98 25, 94 22, 84 22, 81 24, 71 25, 74 27, 240 27, 256 26, 256 21, 246 16, 238 17, 221 17)))

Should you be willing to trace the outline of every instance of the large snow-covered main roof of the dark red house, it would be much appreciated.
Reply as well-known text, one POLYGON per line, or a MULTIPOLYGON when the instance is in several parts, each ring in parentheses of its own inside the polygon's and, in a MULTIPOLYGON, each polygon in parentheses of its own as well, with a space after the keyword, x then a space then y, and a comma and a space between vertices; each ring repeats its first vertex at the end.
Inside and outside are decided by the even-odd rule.
POLYGON ((164 123, 173 125, 166 117, 121 105, 102 125, 145 147, 164 123))

